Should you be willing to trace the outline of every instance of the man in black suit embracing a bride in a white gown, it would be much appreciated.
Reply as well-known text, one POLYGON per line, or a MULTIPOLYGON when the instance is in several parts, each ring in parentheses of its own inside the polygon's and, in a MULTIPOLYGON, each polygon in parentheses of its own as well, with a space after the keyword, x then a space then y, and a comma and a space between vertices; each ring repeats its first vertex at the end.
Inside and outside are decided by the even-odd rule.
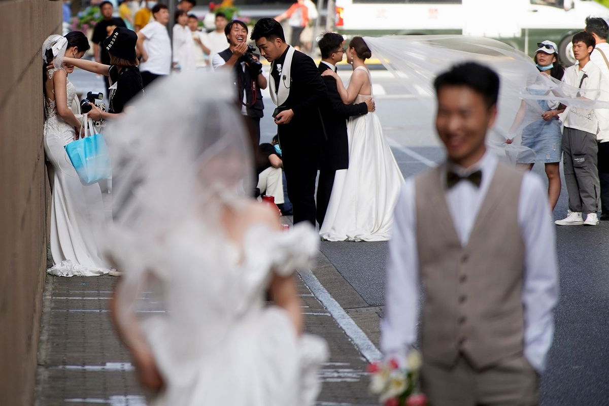
MULTIPOLYGON (((342 61, 345 55, 342 35, 327 32, 319 40, 319 49, 322 52, 322 61, 319 63, 319 73, 326 69, 336 72, 336 64, 342 61)), ((328 98, 322 105, 323 126, 326 129, 327 141, 322 147, 322 158, 319 166, 319 180, 317 181, 317 222, 321 228, 326 217, 326 209, 334 185, 334 175, 337 170, 349 167, 349 140, 347 138, 347 119, 351 116, 361 116, 368 111, 375 111, 373 99, 364 103, 345 104, 340 99, 336 88, 336 80, 331 76, 322 76, 328 88, 328 98)))

